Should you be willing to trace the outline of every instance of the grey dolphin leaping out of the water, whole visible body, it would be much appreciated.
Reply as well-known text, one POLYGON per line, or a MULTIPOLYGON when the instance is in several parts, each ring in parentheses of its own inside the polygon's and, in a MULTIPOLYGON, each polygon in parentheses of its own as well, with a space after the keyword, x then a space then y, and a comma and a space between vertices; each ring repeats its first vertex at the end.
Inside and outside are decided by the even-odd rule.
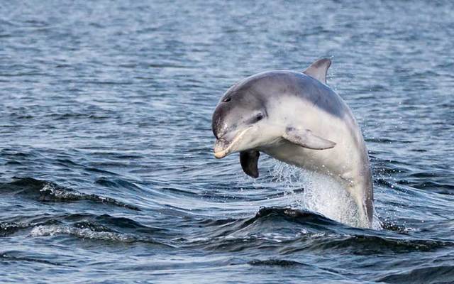
POLYGON ((343 185, 358 205, 353 226, 370 228, 373 190, 365 141, 350 108, 326 85, 331 60, 304 72, 270 71, 227 90, 212 118, 214 155, 240 153, 243 171, 258 178, 260 152, 343 185))

